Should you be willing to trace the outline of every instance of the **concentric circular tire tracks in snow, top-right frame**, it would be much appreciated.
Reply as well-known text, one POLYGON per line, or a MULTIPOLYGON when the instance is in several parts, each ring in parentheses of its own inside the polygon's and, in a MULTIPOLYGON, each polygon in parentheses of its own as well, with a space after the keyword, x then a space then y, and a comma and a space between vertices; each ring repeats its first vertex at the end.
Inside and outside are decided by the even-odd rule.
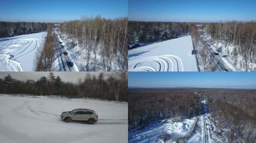
POLYGON ((185 71, 182 59, 176 55, 161 55, 142 58, 131 71, 185 71), (145 63, 153 63, 148 66, 145 63), (145 64, 145 65, 144 65, 145 64))

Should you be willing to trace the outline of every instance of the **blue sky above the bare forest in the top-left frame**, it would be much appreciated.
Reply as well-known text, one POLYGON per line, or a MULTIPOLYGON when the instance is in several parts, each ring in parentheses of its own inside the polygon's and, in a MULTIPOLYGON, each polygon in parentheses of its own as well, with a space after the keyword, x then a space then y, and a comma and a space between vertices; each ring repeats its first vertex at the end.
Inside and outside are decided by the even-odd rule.
POLYGON ((0 0, 0 21, 64 22, 128 16, 128 0, 0 0))

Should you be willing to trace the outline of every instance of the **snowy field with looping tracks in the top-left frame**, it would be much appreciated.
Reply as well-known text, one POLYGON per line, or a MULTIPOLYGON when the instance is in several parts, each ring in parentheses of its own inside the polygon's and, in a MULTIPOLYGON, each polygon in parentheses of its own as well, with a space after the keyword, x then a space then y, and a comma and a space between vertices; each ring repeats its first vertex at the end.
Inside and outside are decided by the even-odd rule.
POLYGON ((46 32, 0 38, 0 71, 33 71, 34 56, 46 32))

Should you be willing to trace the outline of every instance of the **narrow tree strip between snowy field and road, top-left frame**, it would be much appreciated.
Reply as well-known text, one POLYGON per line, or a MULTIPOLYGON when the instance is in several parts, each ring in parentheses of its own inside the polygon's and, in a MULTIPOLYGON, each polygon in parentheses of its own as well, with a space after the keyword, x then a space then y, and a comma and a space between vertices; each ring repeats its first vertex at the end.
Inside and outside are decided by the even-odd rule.
POLYGON ((41 41, 35 57, 35 71, 54 71, 53 62, 56 55, 54 47, 55 33, 52 32, 52 24, 47 25, 47 35, 41 41))

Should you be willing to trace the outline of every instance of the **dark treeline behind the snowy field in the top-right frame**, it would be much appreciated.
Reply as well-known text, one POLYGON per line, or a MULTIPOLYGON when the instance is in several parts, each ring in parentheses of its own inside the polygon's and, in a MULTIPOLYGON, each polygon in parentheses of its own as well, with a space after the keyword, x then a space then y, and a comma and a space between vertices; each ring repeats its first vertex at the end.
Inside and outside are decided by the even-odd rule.
POLYGON ((191 33, 193 23, 128 21, 128 43, 149 43, 191 33))

